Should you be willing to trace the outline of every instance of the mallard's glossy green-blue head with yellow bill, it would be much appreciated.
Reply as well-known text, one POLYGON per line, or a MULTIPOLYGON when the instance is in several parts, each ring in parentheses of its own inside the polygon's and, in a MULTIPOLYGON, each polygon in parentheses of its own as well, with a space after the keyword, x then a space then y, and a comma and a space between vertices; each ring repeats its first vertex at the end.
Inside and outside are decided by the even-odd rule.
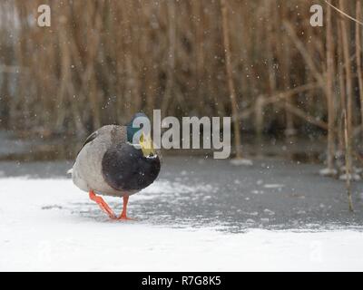
POLYGON ((144 121, 149 121, 149 124, 151 124, 149 118, 143 113, 138 112, 133 115, 132 120, 127 124, 127 141, 131 143, 134 146, 140 145, 142 149, 142 154, 145 157, 150 157, 155 155, 155 151, 153 150, 152 146, 152 137, 149 132, 142 132, 140 135, 140 139, 137 140, 138 142, 134 144, 133 137, 134 135, 142 130, 142 123, 144 121), (136 119, 140 118, 140 121, 137 121, 136 119), (141 125, 139 125, 141 123, 141 125))

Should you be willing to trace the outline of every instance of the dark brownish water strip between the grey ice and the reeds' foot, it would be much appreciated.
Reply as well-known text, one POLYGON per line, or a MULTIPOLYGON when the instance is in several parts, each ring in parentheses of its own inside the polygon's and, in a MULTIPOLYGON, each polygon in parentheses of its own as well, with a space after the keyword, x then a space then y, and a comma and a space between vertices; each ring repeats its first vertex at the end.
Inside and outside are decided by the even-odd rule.
MULTIPOLYGON (((320 163, 325 160, 326 149, 324 139, 309 140, 306 137, 289 139, 276 139, 265 136, 256 139, 253 136, 244 136, 242 151, 252 158, 278 157, 285 160, 294 160, 304 163, 320 163)), ((54 161, 74 160, 83 140, 69 136, 54 136, 45 138, 43 135, 22 138, 15 133, 0 131, 0 161, 54 161)), ((212 157, 211 150, 163 150, 166 156, 202 156, 212 157)), ((233 152, 231 152, 233 157, 233 152)))

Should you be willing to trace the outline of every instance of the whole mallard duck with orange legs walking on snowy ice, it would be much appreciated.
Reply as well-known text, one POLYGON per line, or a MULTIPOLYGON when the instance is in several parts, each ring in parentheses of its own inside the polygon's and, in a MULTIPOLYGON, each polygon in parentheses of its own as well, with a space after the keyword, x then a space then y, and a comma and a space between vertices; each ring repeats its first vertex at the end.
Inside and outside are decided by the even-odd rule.
POLYGON ((161 169, 159 150, 154 150, 150 134, 142 131, 138 143, 132 143, 140 128, 132 127, 137 113, 126 126, 106 125, 94 131, 79 150, 72 171, 74 184, 89 192, 89 197, 112 219, 131 219, 126 215, 129 197, 145 189, 158 177, 161 169), (104 196, 122 197, 123 212, 113 213, 104 196))

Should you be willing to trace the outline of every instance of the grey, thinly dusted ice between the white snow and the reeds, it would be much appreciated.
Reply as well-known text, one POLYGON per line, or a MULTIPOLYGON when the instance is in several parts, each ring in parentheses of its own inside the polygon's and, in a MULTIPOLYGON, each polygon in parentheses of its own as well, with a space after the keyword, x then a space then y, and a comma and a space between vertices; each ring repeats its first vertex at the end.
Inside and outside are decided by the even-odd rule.
MULTIPOLYGON (((64 172, 71 166, 66 161, 0 162, 0 176, 69 179, 64 172)), ((319 169, 319 165, 285 160, 254 160, 252 166, 233 166, 229 160, 168 157, 152 187, 130 198, 129 214, 152 225, 218 227, 229 232, 362 228, 363 182, 353 183, 355 212, 350 213, 344 182, 319 176, 319 169)), ((74 216, 107 219, 101 211, 92 211, 93 202, 69 181, 67 190, 72 189, 74 198, 82 198, 83 203, 74 204, 71 196, 61 209, 56 202, 44 206, 74 216)), ((106 200, 113 208, 121 207, 121 199, 106 200)))

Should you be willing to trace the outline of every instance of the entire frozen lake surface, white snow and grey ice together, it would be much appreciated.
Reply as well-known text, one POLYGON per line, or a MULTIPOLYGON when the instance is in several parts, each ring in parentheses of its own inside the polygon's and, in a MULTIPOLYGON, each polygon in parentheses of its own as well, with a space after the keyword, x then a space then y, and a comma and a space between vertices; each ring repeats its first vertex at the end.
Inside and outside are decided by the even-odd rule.
POLYGON ((362 182, 349 213, 344 182, 317 165, 169 157, 128 222, 75 188, 71 165, 0 162, 0 270, 363 270, 362 182))

